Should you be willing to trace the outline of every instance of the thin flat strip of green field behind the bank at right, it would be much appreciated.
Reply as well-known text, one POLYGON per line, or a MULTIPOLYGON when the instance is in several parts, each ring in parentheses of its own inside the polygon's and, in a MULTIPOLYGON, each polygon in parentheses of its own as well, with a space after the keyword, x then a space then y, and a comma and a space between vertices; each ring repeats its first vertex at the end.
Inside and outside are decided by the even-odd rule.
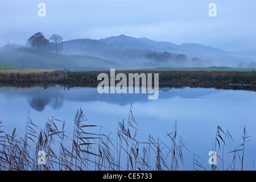
POLYGON ((168 68, 168 67, 159 67, 159 68, 149 68, 149 69, 140 69, 144 71, 238 71, 238 72, 256 72, 256 69, 249 68, 231 68, 231 67, 209 67, 209 68, 168 68))

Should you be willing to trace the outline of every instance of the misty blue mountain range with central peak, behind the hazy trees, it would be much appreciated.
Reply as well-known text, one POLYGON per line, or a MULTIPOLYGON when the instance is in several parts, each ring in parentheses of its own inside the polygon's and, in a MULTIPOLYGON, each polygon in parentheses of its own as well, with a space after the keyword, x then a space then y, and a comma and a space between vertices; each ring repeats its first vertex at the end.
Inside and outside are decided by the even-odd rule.
POLYGON ((208 60, 207 63, 211 64, 207 66, 236 67, 239 64, 239 60, 218 48, 195 43, 177 45, 171 42, 156 42, 147 38, 133 38, 123 34, 99 40, 68 40, 63 43, 63 50, 61 51, 64 55, 96 56, 136 68, 150 62, 145 58, 149 52, 168 52, 173 57, 184 54, 188 60, 186 67, 193 66, 191 62, 193 57, 208 60))

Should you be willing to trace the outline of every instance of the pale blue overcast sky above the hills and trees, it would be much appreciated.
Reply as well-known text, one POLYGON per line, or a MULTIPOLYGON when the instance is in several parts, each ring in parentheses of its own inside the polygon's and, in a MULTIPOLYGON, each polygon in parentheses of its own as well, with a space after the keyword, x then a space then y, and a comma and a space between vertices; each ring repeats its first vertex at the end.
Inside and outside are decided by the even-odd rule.
POLYGON ((42 32, 64 40, 125 34, 175 44, 199 43, 225 51, 256 49, 256 1, 230 0, 1 0, 0 46, 26 44, 42 32), (38 4, 46 4, 46 17, 38 4), (217 16, 210 17, 209 3, 217 16))

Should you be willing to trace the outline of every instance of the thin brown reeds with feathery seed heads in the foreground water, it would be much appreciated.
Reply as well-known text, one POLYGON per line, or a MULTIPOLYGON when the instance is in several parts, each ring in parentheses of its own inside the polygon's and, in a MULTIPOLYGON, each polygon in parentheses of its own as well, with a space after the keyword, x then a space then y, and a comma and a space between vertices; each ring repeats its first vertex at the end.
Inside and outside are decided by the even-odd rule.
MULTIPOLYGON (((184 152, 188 151, 187 143, 174 130, 166 132, 168 142, 148 136, 146 142, 137 139, 138 123, 135 121, 133 105, 130 107, 127 121, 118 122, 117 136, 113 140, 111 134, 101 132, 101 127, 88 125, 84 112, 80 108, 73 119, 73 135, 68 137, 65 121, 52 117, 48 119, 44 129, 36 126, 27 117, 26 132, 23 138, 16 136, 14 129, 11 135, 1 131, 0 122, 0 170, 4 171, 176 171, 183 169, 184 152), (98 127, 98 133, 90 129, 98 127), (68 143, 68 144, 67 144, 68 143)), ((234 170, 243 158, 248 140, 243 130, 243 143, 238 149, 224 152, 228 142, 233 140, 229 131, 224 132, 217 127, 213 150, 218 152, 220 163, 212 165, 211 170, 234 170), (226 155, 233 155, 232 163, 225 162, 226 155)), ((206 170, 194 154, 194 170, 206 170)))

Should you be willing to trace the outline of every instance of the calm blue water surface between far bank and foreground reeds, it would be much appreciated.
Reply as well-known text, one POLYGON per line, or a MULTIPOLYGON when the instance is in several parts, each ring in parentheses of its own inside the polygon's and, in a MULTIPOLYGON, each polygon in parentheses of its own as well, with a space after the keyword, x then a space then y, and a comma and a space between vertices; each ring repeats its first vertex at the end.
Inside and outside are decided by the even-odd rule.
POLYGON ((189 150, 184 154, 184 168, 180 169, 193 169, 193 154, 200 156, 198 160, 210 169, 208 152, 212 150, 217 126, 229 130, 233 137, 226 152, 242 144, 246 126, 252 142, 246 143, 245 169, 253 169, 256 159, 256 92, 253 91, 160 88, 158 100, 148 100, 147 94, 98 94, 97 88, 2 87, 0 121, 6 133, 11 134, 16 127, 18 136, 23 137, 30 110, 29 116, 36 125, 43 128, 53 116, 67 122, 66 130, 72 133, 73 118, 81 107, 88 123, 104 126, 102 132, 112 132, 110 136, 115 139, 118 121, 127 121, 131 103, 141 142, 147 142, 150 134, 155 139, 166 140, 165 131, 173 131, 177 121, 177 132, 187 142, 189 150))

